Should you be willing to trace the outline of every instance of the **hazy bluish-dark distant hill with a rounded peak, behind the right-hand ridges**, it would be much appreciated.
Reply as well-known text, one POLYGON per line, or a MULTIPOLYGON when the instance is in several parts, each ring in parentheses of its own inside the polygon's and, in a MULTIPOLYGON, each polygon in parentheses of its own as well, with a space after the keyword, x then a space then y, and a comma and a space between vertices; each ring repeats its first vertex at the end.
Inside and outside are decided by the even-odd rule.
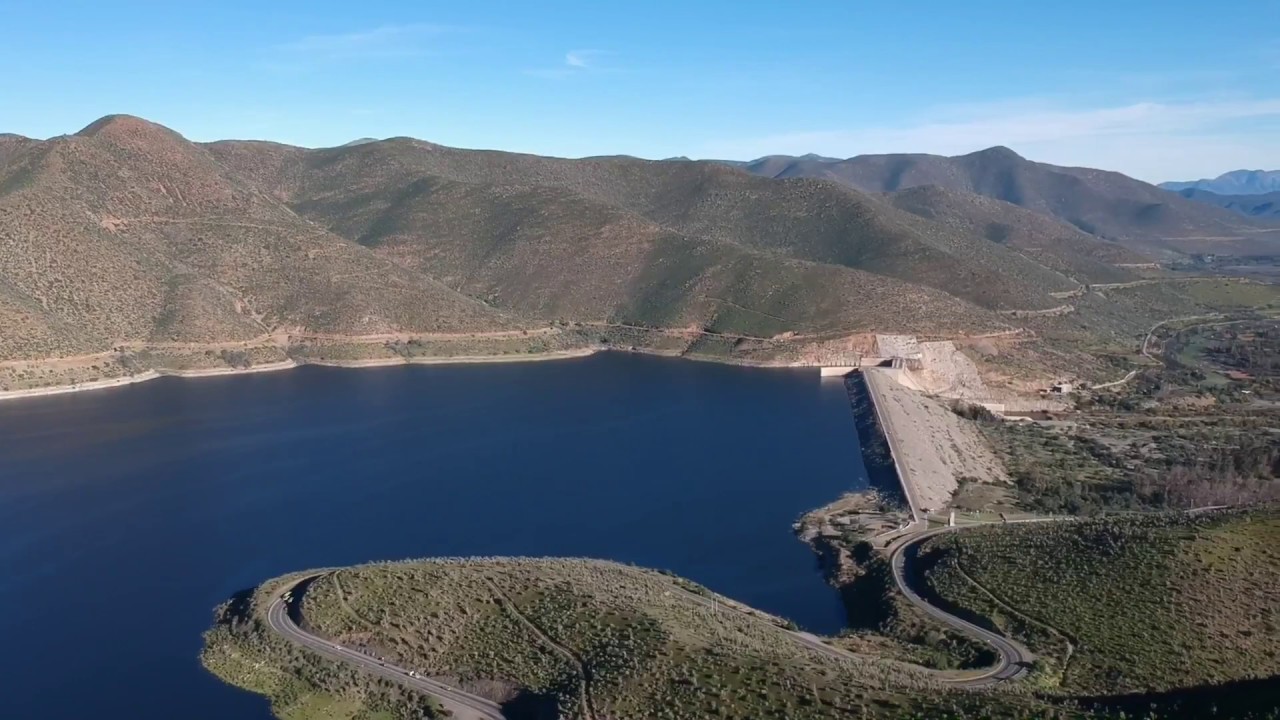
MULTIPOLYGON (((767 160, 767 161, 763 161, 767 160)), ((1034 163, 1007 147, 969 155, 860 155, 840 161, 777 158, 746 169, 773 178, 823 178, 867 192, 918 186, 1019 205, 1140 251, 1274 251, 1280 227, 1197 204, 1120 173, 1034 163), (1268 234, 1266 231, 1275 231, 1268 234)))

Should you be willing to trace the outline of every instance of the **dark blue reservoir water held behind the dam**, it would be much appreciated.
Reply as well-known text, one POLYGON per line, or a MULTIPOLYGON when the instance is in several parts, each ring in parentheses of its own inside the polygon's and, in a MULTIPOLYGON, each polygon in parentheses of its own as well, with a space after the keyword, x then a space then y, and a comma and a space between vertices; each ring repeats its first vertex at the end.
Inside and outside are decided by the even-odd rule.
POLYGON ((791 523, 864 477, 813 370, 607 354, 3 402, 0 717, 268 719, 200 666, 212 607, 370 560, 604 557, 835 632, 791 523))

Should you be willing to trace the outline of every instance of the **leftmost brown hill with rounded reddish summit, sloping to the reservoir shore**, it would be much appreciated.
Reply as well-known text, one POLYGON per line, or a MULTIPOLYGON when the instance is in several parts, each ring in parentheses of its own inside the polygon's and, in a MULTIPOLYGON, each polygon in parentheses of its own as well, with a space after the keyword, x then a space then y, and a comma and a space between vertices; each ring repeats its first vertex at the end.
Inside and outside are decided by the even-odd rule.
POLYGON ((297 217, 202 147, 129 117, 0 165, 0 357, 124 341, 513 327, 297 217))

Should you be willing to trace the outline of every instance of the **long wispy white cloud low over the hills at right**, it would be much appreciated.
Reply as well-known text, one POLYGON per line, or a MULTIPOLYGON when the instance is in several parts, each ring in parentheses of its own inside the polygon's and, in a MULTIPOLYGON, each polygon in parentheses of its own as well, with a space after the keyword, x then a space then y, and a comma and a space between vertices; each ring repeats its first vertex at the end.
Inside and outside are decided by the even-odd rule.
POLYGON ((713 142, 708 156, 818 152, 956 155, 1007 145, 1059 164, 1117 169, 1143 179, 1280 167, 1280 99, 1134 102, 1069 109, 1042 100, 940 108, 897 127, 867 126, 713 142))

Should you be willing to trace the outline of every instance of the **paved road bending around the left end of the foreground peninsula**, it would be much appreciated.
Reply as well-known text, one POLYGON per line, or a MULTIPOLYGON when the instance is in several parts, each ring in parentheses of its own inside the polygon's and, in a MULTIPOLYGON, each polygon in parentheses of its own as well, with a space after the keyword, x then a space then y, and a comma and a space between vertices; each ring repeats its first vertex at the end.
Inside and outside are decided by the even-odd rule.
POLYGON ((296 642, 316 655, 355 665, 361 670, 399 683, 406 688, 434 697, 442 706, 453 712, 457 720, 503 720, 502 706, 490 700, 452 688, 428 678, 411 676, 410 670, 390 662, 370 657, 362 652, 342 647, 338 643, 317 638, 293 621, 289 609, 297 603, 305 585, 320 575, 308 575, 294 583, 287 592, 271 601, 266 611, 268 624, 287 639, 296 642), (285 601, 284 597, 291 600, 285 601))

